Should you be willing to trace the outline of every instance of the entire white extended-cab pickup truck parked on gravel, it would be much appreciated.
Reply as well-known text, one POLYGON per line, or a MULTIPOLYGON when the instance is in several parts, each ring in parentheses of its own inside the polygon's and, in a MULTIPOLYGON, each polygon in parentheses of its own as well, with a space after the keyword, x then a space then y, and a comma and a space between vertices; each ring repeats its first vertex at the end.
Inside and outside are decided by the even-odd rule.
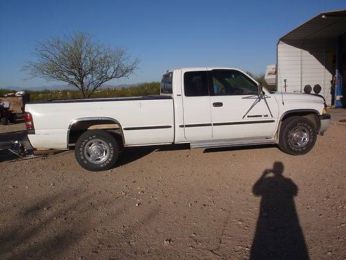
POLYGON ((68 150, 89 171, 113 167, 122 146, 188 143, 191 148, 277 144, 304 155, 329 125, 322 96, 271 93, 238 69, 167 71, 161 95, 26 104, 37 150, 68 150))

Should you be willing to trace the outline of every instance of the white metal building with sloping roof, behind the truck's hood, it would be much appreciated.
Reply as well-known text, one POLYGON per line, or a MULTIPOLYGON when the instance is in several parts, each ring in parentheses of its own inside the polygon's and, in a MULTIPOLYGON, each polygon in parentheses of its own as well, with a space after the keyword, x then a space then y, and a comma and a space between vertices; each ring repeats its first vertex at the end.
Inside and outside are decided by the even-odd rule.
POLYGON ((320 94, 331 105, 331 79, 336 76, 335 105, 345 106, 345 44, 346 9, 321 12, 281 37, 277 43, 277 90, 284 91, 286 84, 287 92, 303 92, 305 85, 318 84, 320 94))

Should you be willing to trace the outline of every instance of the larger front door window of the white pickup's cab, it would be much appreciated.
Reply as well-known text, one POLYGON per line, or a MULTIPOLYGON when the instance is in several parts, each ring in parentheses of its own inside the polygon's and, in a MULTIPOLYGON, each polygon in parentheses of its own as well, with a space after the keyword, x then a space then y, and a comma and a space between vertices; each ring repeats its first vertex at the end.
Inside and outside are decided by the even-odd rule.
POLYGON ((212 71, 213 96, 257 94, 257 84, 240 71, 215 69, 212 71))

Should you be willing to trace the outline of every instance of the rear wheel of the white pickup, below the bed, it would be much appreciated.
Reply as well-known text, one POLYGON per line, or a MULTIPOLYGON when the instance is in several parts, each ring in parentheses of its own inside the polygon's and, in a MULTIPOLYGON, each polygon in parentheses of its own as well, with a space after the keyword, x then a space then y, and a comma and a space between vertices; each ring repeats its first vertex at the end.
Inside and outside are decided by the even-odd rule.
POLYGON ((84 132, 75 144, 75 159, 88 171, 106 171, 118 159, 119 147, 116 139, 105 130, 84 132))

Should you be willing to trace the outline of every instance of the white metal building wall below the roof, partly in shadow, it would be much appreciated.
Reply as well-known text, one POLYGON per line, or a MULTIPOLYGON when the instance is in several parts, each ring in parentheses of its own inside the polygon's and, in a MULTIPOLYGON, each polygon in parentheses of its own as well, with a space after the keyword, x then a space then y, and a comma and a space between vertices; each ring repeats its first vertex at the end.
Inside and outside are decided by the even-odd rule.
POLYGON ((330 80, 335 73, 335 42, 291 40, 277 44, 277 91, 303 92, 305 85, 322 87, 320 94, 331 104, 330 80))

